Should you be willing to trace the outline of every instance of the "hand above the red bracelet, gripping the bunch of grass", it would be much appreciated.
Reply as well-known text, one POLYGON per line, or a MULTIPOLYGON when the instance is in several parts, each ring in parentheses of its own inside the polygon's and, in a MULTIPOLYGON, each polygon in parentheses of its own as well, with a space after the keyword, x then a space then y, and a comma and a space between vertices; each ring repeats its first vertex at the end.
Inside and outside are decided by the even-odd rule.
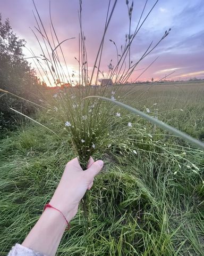
POLYGON ((94 162, 94 159, 90 157, 87 170, 83 171, 77 157, 68 162, 50 205, 63 212, 70 221, 78 211, 80 200, 87 189, 92 187, 94 177, 103 165, 103 161, 94 162))

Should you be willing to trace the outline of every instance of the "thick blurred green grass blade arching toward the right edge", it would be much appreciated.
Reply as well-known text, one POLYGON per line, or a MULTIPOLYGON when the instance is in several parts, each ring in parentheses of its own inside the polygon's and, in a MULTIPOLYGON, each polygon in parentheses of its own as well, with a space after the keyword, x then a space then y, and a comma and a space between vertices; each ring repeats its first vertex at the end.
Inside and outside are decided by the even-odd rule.
POLYGON ((87 99, 87 98, 100 98, 100 99, 103 99, 103 100, 106 100, 106 101, 111 101, 114 104, 119 105, 119 106, 121 106, 123 108, 126 108, 126 109, 130 110, 131 112, 133 112, 133 113, 135 113, 135 114, 137 114, 137 115, 147 119, 152 124, 156 124, 159 127, 161 127, 163 129, 173 133, 174 135, 181 137, 182 139, 184 139, 185 141, 188 141, 192 145, 197 146, 197 147, 199 147, 202 150, 204 149, 204 144, 201 141, 199 141, 197 139, 194 139, 190 135, 175 129, 171 125, 165 124, 165 123, 159 121, 158 119, 156 119, 154 117, 151 117, 151 116, 143 113, 142 111, 140 111, 138 109, 135 109, 133 107, 130 107, 130 106, 128 106, 128 105, 126 105, 126 104, 124 104, 122 102, 118 102, 116 100, 112 100, 112 99, 109 99, 109 98, 106 98, 106 97, 101 97, 101 96, 88 96, 88 97, 86 97, 84 99, 87 99))

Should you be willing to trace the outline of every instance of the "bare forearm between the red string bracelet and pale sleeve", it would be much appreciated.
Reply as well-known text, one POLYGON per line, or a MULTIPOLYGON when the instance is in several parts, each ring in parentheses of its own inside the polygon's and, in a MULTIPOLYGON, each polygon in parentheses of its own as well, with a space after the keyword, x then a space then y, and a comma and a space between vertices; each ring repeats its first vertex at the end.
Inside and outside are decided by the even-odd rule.
MULTIPOLYGON (((70 221, 69 217, 67 221, 70 221)), ((47 208, 22 245, 47 256, 53 256, 56 254, 66 225, 60 212, 47 208)))

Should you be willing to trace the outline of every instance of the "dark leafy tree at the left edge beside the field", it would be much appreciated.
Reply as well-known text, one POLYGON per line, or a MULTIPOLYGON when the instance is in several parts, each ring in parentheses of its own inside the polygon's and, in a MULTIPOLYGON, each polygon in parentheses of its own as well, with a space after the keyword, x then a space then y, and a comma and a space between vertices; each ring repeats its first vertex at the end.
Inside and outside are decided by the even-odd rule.
MULTIPOLYGON (((14 34, 8 19, 2 22, 0 14, 0 89, 39 103, 36 96, 39 95, 40 81, 24 58, 25 43, 14 34)), ((0 92, 0 99, 0 130, 10 128, 18 118, 10 107, 24 114, 35 110, 30 103, 11 94, 0 92)))

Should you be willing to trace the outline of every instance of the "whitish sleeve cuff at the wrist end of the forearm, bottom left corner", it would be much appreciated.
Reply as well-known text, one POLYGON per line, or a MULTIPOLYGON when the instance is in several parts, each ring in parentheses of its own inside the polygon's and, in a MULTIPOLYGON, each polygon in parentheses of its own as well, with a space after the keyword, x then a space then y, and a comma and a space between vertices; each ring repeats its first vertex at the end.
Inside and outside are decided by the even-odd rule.
POLYGON ((46 256, 39 252, 35 252, 32 249, 22 246, 21 244, 15 244, 7 256, 46 256))

